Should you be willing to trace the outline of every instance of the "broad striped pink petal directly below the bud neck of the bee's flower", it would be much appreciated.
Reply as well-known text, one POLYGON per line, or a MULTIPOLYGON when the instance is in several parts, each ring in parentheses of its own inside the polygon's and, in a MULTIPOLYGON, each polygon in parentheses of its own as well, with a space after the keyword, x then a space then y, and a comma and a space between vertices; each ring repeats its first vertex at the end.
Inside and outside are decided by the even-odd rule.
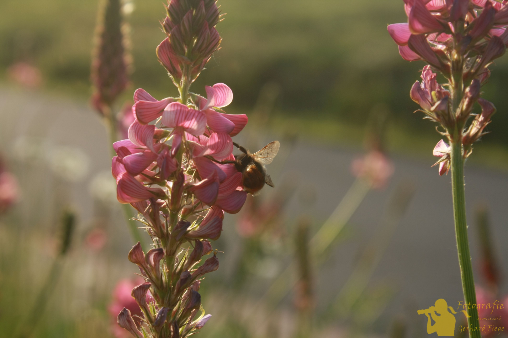
POLYGON ((173 102, 164 109, 162 124, 170 128, 182 127, 196 136, 202 135, 206 128, 206 115, 180 102, 173 102))

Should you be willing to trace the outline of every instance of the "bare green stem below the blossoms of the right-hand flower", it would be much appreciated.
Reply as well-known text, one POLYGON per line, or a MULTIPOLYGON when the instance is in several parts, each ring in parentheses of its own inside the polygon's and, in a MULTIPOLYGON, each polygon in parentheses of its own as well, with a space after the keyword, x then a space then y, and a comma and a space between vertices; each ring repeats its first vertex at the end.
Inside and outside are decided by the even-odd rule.
POLYGON ((469 241, 467 240, 466 224, 466 200, 464 193, 464 158, 462 155, 461 133, 459 137, 451 144, 451 164, 452 164, 452 195, 453 195, 453 213, 455 219, 455 237, 457 239, 457 252, 459 255, 460 276, 462 279, 462 291, 464 292, 464 301, 467 307, 467 318, 469 327, 469 337, 481 338, 480 322, 478 320, 478 311, 472 304, 477 304, 476 293, 474 291, 473 271, 471 267, 471 255, 469 254, 469 241), (468 306, 469 305, 469 306, 468 306))

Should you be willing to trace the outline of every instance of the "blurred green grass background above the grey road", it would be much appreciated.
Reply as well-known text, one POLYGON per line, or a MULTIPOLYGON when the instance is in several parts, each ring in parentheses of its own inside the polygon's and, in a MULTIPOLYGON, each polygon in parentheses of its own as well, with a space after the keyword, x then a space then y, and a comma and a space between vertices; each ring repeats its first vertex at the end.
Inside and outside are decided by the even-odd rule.
MULTIPOLYGON (((134 73, 125 99, 140 87, 158 98, 176 95, 155 56, 155 47, 165 36, 158 24, 164 17, 163 2, 131 3, 134 73)), ((252 108, 265 84, 275 83, 280 88, 275 121, 317 139, 353 144, 361 142, 370 111, 384 107, 392 116, 390 148, 430 156, 429 146, 437 142, 437 134, 431 123, 421 123, 421 114, 412 114, 417 105, 408 95, 423 63, 402 60, 386 30, 387 24, 406 20, 401 1, 219 3, 227 13, 217 25, 224 38, 222 48, 202 72, 195 91, 224 82, 235 95, 230 110, 244 112, 252 108)), ((45 90, 86 100, 91 93, 90 50, 97 8, 97 1, 3 0, 0 77, 6 79, 9 65, 28 61, 41 69, 45 90)), ((488 127, 492 134, 485 137, 473 161, 500 167, 499 162, 508 163, 504 151, 508 134, 503 132, 508 96, 502 95, 508 62, 498 60, 484 87, 484 97, 495 103, 498 114, 488 127), (490 156, 492 149, 496 156, 490 156)))

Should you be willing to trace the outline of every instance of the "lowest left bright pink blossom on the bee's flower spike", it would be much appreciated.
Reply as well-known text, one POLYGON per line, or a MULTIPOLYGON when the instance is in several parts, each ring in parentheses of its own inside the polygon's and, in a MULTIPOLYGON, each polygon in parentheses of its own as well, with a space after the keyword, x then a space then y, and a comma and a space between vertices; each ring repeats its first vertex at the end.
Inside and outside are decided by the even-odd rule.
POLYGON ((116 198, 122 204, 141 202, 153 197, 164 198, 166 195, 160 188, 144 186, 127 172, 118 174, 116 184, 116 198))

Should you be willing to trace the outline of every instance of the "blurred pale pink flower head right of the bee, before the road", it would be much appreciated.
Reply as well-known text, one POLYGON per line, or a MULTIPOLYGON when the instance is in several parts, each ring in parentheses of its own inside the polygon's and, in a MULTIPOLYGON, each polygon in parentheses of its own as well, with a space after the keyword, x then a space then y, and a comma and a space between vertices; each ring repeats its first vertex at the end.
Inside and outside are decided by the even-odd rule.
POLYGON ((378 151, 371 151, 364 157, 353 160, 351 165, 353 175, 366 179, 374 189, 383 188, 394 170, 392 161, 378 151))

